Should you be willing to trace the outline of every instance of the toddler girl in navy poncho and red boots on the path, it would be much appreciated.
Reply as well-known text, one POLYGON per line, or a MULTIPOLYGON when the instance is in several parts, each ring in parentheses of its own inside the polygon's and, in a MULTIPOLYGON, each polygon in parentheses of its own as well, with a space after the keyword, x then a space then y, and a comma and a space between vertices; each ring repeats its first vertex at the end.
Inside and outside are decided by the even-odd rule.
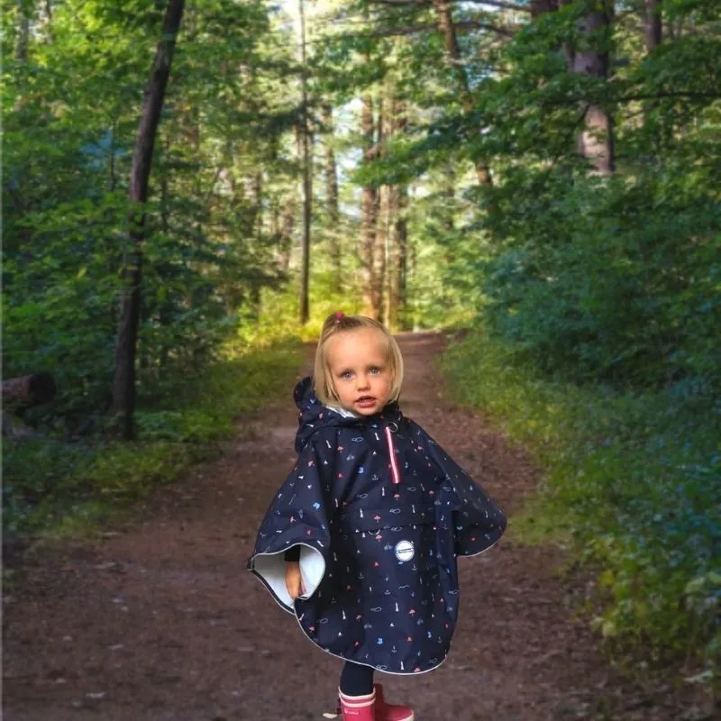
POLYGON ((313 379, 298 383, 298 460, 248 568, 306 637, 345 661, 343 721, 412 721, 374 670, 445 660, 458 615, 456 556, 506 529, 502 511, 397 404, 403 359, 363 316, 329 316, 313 379))

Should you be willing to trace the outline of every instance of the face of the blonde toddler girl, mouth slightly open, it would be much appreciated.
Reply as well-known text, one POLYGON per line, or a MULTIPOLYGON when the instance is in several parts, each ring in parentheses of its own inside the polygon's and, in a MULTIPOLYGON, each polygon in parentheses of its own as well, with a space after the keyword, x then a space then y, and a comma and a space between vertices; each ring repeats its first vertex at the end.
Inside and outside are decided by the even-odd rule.
POLYGON ((388 403, 391 372, 388 343, 375 328, 335 333, 328 339, 326 360, 342 406, 373 415, 388 403))

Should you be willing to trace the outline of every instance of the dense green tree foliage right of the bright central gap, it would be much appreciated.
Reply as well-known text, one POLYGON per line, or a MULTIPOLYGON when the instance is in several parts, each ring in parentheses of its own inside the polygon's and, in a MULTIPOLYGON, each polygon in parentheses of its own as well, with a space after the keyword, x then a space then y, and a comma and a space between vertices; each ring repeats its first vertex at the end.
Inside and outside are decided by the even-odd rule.
POLYGON ((583 3, 528 23, 478 60, 472 107, 444 103, 360 175, 423 178, 415 237, 440 260, 423 284, 429 306, 482 313, 527 359, 577 382, 721 388, 721 15, 669 9, 693 32, 650 53, 630 20, 584 38, 583 3), (570 72, 569 43, 610 49, 618 67, 570 72), (488 59, 503 71, 483 72, 488 59), (589 106, 614 121, 611 177, 577 150, 589 106), (479 159, 494 183, 461 195, 459 168, 479 159))

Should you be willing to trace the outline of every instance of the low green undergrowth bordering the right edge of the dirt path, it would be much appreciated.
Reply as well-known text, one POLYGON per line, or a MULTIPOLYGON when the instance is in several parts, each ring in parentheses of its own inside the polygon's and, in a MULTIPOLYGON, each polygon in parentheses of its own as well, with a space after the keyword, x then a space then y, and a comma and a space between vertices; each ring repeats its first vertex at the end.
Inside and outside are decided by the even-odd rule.
POLYGON ((530 448, 544 482, 530 525, 570 534, 598 566, 593 625, 616 653, 721 671, 721 404, 682 384, 645 395, 549 379, 471 333, 444 356, 458 397, 530 448))

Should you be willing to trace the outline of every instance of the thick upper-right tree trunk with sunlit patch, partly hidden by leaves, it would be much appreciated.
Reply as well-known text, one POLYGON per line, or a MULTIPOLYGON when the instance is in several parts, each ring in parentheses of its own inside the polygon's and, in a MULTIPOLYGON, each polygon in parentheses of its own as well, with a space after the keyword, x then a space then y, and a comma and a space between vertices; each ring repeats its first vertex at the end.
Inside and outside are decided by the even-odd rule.
MULTIPOLYGON (((563 0, 568 5, 573 0, 563 0)), ((577 51, 566 49, 568 68, 574 73, 585 73, 596 78, 607 78, 609 56, 607 40, 613 14, 613 0, 597 0, 595 9, 580 21, 580 31, 589 36, 586 49, 577 51), (603 48, 595 47, 602 38, 603 48)), ((607 109, 600 105, 588 105, 584 114, 584 129, 577 138, 580 154, 589 160, 598 175, 611 175, 614 172, 614 136, 613 120, 607 109)))

